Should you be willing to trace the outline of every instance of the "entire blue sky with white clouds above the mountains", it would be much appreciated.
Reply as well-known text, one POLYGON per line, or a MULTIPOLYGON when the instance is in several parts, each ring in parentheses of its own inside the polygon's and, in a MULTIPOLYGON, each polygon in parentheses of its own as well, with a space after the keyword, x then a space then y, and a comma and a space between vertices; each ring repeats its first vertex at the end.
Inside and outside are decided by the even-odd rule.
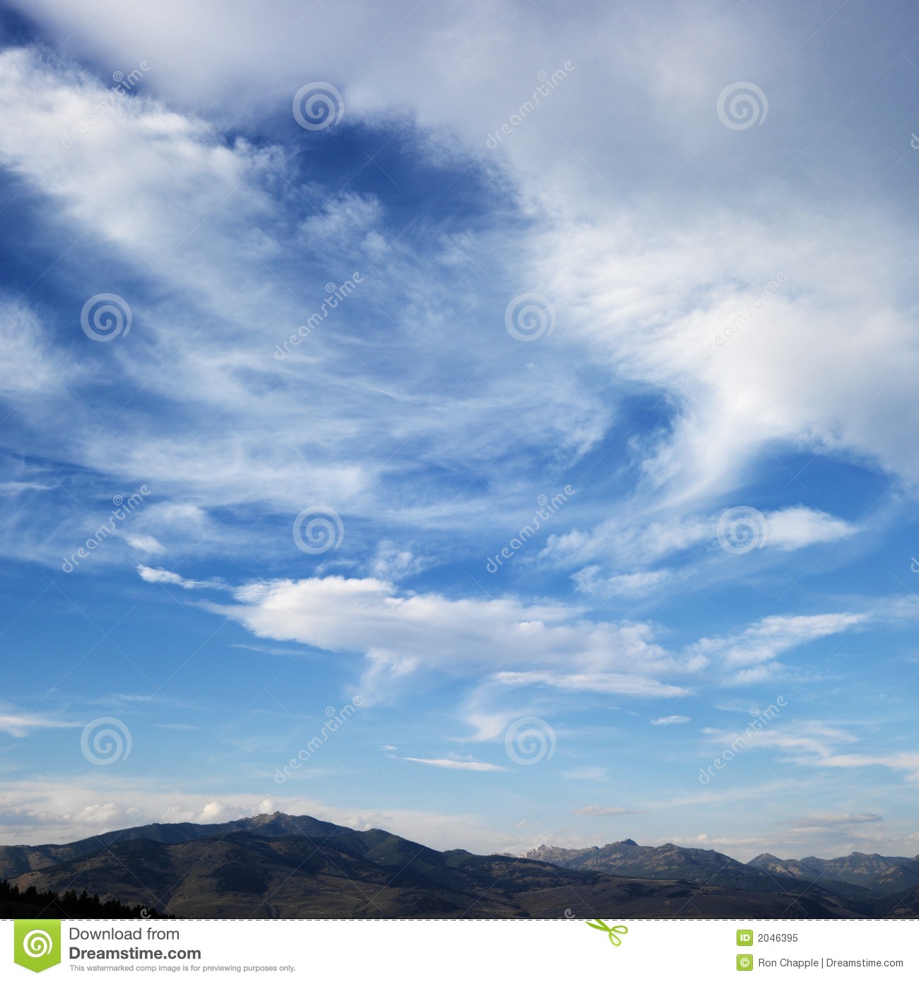
POLYGON ((919 851, 910 5, 2 24, 0 840, 919 851))

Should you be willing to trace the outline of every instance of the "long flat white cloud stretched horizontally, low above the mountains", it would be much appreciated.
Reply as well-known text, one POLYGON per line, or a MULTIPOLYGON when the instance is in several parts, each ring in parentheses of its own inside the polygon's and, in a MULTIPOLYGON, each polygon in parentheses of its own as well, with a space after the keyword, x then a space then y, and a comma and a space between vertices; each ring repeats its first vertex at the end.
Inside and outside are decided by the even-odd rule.
MULTIPOLYGON (((367 659, 362 698, 418 671, 451 677, 488 676, 497 687, 545 687, 640 697, 687 694, 703 670, 715 682, 741 684, 774 675, 779 655, 866 624, 861 613, 772 615, 743 630, 703 637, 682 651, 664 648, 655 627, 594 622, 564 604, 527 605, 511 598, 450 599, 405 593, 375 578, 330 575, 227 587, 140 567, 149 582, 232 589, 235 604, 205 608, 261 637, 367 659)), ((493 737, 512 716, 470 707, 469 722, 493 737)), ((675 722, 675 721, 674 721, 675 722)), ((488 737, 484 737, 488 738, 488 737)))

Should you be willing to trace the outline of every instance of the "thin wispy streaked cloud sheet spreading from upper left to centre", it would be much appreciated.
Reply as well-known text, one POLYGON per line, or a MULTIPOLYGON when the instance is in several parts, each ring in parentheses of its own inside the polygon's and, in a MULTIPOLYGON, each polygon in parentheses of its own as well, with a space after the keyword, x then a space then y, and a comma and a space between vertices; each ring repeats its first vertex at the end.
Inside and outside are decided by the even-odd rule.
MULTIPOLYGON (((166 550, 197 536, 209 551, 275 553, 292 546, 276 525, 259 534, 258 521, 292 521, 325 503, 346 519, 386 523, 390 536, 435 518, 431 537, 455 548, 457 530, 506 527, 513 503, 496 508, 488 496, 454 494, 444 510, 438 473, 479 473, 514 447, 521 456, 505 470, 522 485, 530 453, 551 445, 576 459, 602 438, 611 409, 576 384, 578 353, 528 353, 535 383, 507 370, 508 352, 520 353, 507 347, 513 342, 489 305, 496 294, 502 306, 507 288, 496 269, 470 278, 467 268, 503 243, 502 232, 464 232, 465 242, 434 235, 416 249, 393 234, 387 223, 398 220, 373 195, 316 189, 314 205, 313 191, 295 190, 301 177, 287 151, 227 140, 146 95, 116 98, 98 127, 65 148, 62 134, 109 91, 79 67, 48 66, 27 50, 0 54, 0 162, 55 202, 55 235, 79 239, 69 274, 78 298, 100 289, 94 257, 104 254, 106 278, 119 281, 106 286, 128 295, 135 326, 118 346, 93 345, 80 332, 82 300, 60 324, 21 304, 0 325, 7 377, 23 387, 8 395, 39 383, 47 390, 32 413, 29 453, 155 488, 157 506, 133 533, 166 550), (356 270, 366 275, 333 311, 337 337, 317 328, 275 358, 276 345, 326 299, 326 282, 356 270), (132 288, 139 276, 152 277, 150 291, 132 288), (477 306, 482 316, 470 320, 477 306), (69 387, 48 365, 58 331, 79 342, 68 348, 75 363, 59 369, 69 387), (155 402, 155 416, 116 397, 117 428, 99 429, 92 404, 107 371, 103 347, 122 384, 155 402), (54 422, 62 416, 63 429, 54 422), (250 520, 210 518, 227 507, 250 520)), ((45 220, 47 209, 36 213, 36 223, 45 220)), ((377 574, 408 575, 428 563, 393 549, 381 550, 377 574)), ((59 550, 42 543, 36 551, 53 561, 59 550)))

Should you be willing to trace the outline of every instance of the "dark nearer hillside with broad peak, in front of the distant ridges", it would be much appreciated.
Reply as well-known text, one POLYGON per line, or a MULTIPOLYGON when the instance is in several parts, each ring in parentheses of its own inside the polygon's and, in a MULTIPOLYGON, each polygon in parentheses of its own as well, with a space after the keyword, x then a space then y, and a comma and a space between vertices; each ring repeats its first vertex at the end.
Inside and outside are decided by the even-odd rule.
MULTIPOLYGON (((22 873, 22 890, 86 890, 184 917, 848 917, 832 893, 739 889, 678 877, 610 875, 538 859, 438 852, 390 833, 308 817, 147 826, 67 846, 22 873), (240 828, 244 831, 236 831, 240 828), (280 829, 296 829, 295 833, 280 829), (140 833, 150 830, 156 839, 140 833), (229 831, 232 829, 233 831, 229 831), (215 834, 216 830, 216 834, 215 834), (307 834, 309 833, 309 834, 307 834), (185 837, 184 841, 174 840, 185 837), (100 843, 100 840, 103 842, 100 843), (94 842, 94 850, 87 843, 94 842), (76 853, 80 853, 76 855, 76 853)), ((7 857, 13 861, 14 857, 7 857)), ((766 878, 766 874, 755 874, 766 878)), ((770 878, 771 879, 771 878, 770 878)))

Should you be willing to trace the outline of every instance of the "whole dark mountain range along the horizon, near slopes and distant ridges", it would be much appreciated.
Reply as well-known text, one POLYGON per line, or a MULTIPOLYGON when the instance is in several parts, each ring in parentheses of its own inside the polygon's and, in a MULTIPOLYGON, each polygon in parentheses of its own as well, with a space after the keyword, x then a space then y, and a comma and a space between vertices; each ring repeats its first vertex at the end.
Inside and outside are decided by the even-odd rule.
POLYGON ((184 917, 914 917, 919 857, 749 863, 631 840, 523 856, 444 852, 280 812, 0 847, 20 890, 86 890, 184 917))

